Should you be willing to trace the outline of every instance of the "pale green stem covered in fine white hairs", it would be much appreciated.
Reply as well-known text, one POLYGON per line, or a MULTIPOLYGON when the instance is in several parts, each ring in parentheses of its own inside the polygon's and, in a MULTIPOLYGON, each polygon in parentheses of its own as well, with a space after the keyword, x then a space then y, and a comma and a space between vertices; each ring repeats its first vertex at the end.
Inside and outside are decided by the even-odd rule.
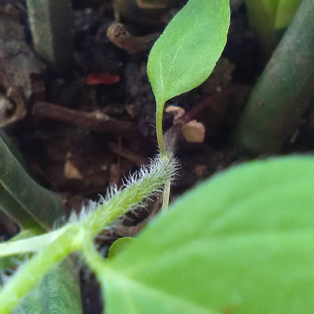
POLYGON ((125 188, 111 189, 108 199, 92 212, 83 213, 77 221, 62 227, 60 236, 29 262, 20 267, 13 278, 0 290, 0 313, 10 314, 13 308, 52 266, 74 251, 82 250, 87 237, 93 237, 129 209, 140 206, 144 198, 159 193, 176 170, 172 154, 156 157, 151 164, 127 179, 125 188))

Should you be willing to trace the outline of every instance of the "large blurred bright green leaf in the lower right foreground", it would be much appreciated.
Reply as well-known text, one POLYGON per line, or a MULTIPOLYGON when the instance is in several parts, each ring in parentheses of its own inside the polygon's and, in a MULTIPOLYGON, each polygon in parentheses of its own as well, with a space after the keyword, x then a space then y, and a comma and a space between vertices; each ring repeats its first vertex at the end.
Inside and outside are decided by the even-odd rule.
POLYGON ((313 157, 214 177, 104 264, 105 313, 312 314, 313 204, 313 157))

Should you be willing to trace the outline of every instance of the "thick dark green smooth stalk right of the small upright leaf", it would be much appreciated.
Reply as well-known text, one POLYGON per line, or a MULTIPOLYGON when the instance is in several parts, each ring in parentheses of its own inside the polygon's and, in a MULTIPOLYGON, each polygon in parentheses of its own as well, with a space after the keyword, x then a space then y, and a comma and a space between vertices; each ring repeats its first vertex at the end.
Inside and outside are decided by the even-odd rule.
POLYGON ((278 152, 314 98, 313 12, 303 0, 248 99, 235 134, 248 153, 278 152))

